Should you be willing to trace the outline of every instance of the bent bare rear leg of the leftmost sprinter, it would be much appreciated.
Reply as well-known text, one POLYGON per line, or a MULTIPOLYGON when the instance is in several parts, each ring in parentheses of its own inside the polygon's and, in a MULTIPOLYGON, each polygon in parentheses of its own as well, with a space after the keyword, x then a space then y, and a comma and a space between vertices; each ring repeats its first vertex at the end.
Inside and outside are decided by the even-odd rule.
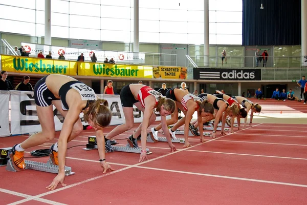
POLYGON ((21 148, 25 150, 48 142, 52 140, 55 135, 52 105, 48 107, 36 106, 36 111, 41 126, 41 132, 31 135, 20 144, 21 148))

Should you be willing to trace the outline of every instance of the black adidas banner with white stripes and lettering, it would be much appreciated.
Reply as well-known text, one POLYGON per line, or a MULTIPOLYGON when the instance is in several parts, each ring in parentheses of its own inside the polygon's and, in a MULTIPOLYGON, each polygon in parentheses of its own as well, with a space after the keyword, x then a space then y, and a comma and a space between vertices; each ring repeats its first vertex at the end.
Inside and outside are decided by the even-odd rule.
POLYGON ((193 68, 193 79, 261 80, 261 69, 193 68))

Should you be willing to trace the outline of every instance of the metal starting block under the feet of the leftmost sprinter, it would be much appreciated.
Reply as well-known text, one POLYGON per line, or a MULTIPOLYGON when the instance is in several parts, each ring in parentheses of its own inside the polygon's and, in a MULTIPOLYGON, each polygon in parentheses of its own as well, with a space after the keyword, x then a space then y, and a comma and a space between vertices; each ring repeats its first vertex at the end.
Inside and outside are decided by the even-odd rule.
MULTIPOLYGON (((22 170, 25 170, 25 169, 30 169, 30 170, 37 170, 37 171, 42 171, 42 172, 54 173, 54 174, 59 173, 59 167, 57 165, 55 165, 55 163, 54 163, 53 154, 49 154, 50 159, 47 161, 47 163, 25 160, 25 165, 26 165, 25 169, 18 168, 14 164, 14 162, 11 161, 11 159, 13 158, 12 151, 9 151, 9 156, 10 157, 9 157, 7 167, 6 167, 7 171, 18 172, 18 171, 22 171, 22 170)), ((73 174, 75 174, 75 173, 72 172, 72 168, 65 166, 65 176, 70 176, 70 175, 73 175, 73 174)))

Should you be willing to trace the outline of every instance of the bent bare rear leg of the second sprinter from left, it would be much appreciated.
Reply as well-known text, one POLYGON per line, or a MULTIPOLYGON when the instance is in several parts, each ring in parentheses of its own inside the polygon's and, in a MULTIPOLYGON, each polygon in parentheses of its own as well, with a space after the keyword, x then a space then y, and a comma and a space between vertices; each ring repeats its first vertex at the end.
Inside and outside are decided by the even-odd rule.
POLYGON ((125 124, 117 126, 114 130, 108 133, 105 138, 112 139, 113 137, 133 128, 134 117, 133 117, 133 108, 123 108, 125 115, 125 124))

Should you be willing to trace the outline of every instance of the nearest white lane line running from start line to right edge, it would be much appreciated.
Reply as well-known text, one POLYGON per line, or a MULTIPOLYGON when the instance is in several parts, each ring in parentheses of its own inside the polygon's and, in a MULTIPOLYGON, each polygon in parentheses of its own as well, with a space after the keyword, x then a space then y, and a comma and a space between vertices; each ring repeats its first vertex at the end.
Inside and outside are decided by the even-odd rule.
POLYGON ((268 181, 268 180, 250 179, 250 178, 232 177, 232 176, 223 176, 223 175, 214 175, 214 174, 202 174, 202 173, 195 173, 195 172, 184 172, 184 171, 177 171, 177 170, 151 168, 151 167, 136 167, 136 168, 148 169, 148 170, 158 170, 158 171, 164 171, 164 172, 182 173, 182 174, 191 174, 191 175, 200 175, 200 176, 209 176, 209 177, 217 177, 217 178, 235 179, 235 180, 243 180, 243 181, 255 181, 255 182, 262 182, 262 183, 272 183, 275 185, 287 185, 287 186, 293 186, 293 187, 307 188, 307 185, 299 185, 297 183, 286 183, 286 182, 279 182, 279 181, 268 181))

